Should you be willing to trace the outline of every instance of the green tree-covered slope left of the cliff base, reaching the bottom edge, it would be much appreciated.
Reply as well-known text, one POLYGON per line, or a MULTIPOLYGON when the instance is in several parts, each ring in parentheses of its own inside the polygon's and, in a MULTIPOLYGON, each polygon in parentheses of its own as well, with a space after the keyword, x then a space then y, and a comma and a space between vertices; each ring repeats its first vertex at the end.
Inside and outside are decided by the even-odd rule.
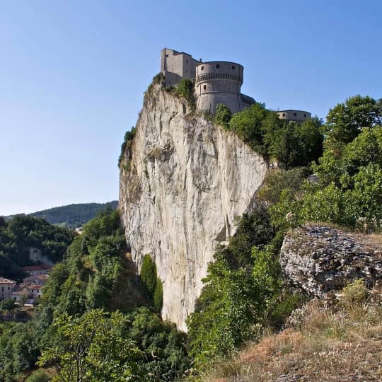
POLYGON ((183 375, 190 364, 185 335, 154 313, 154 300, 141 284, 118 212, 100 212, 52 270, 33 320, 0 332, 0 381, 39 359, 56 367, 58 381, 170 381, 183 375))

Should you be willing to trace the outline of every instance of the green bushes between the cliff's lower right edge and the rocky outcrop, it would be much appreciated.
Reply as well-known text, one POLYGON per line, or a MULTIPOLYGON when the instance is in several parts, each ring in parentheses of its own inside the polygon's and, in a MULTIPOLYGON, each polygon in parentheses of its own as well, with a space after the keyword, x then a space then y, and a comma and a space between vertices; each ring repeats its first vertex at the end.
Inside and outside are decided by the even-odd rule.
POLYGON ((243 216, 228 246, 214 253, 195 313, 187 320, 190 354, 199 366, 231 354, 262 323, 280 288, 278 248, 266 245, 273 237, 267 212, 258 207, 243 216))

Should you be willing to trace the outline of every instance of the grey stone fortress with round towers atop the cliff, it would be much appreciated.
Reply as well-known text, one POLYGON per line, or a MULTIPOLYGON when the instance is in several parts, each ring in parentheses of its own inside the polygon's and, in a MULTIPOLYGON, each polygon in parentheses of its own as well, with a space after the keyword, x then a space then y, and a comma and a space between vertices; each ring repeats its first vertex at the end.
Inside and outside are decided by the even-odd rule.
MULTIPOLYGON (((191 54, 164 48, 161 50, 161 73, 165 75, 165 86, 174 86, 181 79, 195 79, 197 96, 196 109, 214 114, 216 105, 223 103, 234 114, 240 112, 255 100, 241 93, 243 66, 236 62, 196 60, 191 54)), ((303 110, 277 111, 279 118, 303 122, 311 117, 303 110)))

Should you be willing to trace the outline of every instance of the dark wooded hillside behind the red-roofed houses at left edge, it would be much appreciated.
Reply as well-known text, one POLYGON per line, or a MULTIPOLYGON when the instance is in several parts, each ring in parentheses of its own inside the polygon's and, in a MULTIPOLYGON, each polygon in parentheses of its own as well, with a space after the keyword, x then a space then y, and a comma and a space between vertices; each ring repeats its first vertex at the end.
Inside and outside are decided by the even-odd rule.
POLYGON ((62 260, 75 234, 43 219, 17 215, 11 221, 0 217, 0 276, 21 280, 21 267, 32 265, 29 248, 39 248, 53 262, 62 260))

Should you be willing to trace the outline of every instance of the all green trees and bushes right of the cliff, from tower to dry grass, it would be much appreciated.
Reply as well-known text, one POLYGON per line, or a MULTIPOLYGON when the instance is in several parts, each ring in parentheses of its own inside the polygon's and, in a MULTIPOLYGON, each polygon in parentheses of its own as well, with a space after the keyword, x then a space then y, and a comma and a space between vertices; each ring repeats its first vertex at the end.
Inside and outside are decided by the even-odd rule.
POLYGON ((278 328, 304 296, 282 287, 278 253, 284 231, 306 221, 331 221, 368 231, 382 226, 382 101, 356 96, 313 118, 284 124, 263 105, 215 122, 256 151, 274 157, 251 214, 218 248, 190 315, 190 353, 199 368, 233 354, 264 328, 278 328), (323 134, 325 140, 323 143, 323 134), (323 154, 320 156, 320 154, 323 154), (308 166, 308 167, 307 167, 308 166), (316 172, 319 183, 306 177, 316 172))

